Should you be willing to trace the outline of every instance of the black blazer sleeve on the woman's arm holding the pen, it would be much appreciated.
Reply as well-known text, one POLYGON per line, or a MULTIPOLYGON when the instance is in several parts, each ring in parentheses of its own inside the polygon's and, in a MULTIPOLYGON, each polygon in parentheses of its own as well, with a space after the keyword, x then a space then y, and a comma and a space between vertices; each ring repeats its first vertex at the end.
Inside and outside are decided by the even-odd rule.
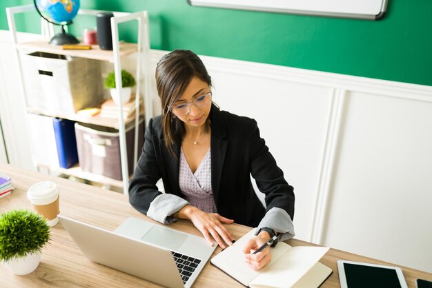
POLYGON ((249 137, 251 175, 259 191, 266 195, 266 212, 273 207, 281 208, 293 219, 294 189, 285 181, 284 172, 277 167, 275 158, 268 151, 264 139, 259 135, 257 122, 253 119, 249 125, 249 137))

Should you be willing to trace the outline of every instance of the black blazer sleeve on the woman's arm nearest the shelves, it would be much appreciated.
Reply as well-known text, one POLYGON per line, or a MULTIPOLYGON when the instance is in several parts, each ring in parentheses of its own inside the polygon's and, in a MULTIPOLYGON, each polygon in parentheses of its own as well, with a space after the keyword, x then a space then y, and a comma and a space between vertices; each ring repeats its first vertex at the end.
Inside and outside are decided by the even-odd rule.
POLYGON ((129 203, 139 212, 147 214, 150 203, 162 194, 156 186, 161 174, 155 155, 155 142, 158 140, 153 127, 153 119, 150 119, 148 123, 144 138, 144 147, 129 183, 129 203))

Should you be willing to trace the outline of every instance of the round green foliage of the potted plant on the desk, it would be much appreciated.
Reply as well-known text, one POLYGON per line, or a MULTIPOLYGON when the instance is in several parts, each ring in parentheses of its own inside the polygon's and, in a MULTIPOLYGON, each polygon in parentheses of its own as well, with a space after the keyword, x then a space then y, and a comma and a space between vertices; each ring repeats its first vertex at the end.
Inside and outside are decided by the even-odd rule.
POLYGON ((29 210, 17 209, 0 216, 0 259, 22 258, 40 252, 50 240, 45 218, 29 210))

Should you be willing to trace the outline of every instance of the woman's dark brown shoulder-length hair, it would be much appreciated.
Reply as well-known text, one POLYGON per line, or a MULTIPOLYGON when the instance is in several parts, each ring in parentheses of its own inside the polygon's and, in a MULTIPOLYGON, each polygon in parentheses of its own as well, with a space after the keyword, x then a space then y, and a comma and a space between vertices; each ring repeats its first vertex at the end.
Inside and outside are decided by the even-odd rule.
MULTIPOLYGON (((172 145, 181 142, 186 132, 184 123, 170 112, 170 107, 178 101, 188 87, 190 81, 197 77, 211 87, 211 78, 204 63, 190 50, 174 50, 163 56, 156 66, 157 94, 161 99, 162 129, 165 145, 170 154, 174 155, 172 145)), ((210 117, 205 123, 205 130, 210 129, 210 117)))

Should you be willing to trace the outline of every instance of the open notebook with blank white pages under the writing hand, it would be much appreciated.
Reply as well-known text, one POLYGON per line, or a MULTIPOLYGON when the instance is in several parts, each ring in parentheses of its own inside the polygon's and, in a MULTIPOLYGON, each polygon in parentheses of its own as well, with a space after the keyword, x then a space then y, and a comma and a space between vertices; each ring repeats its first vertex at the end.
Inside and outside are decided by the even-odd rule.
POLYGON ((255 271, 244 262, 242 251, 246 241, 254 234, 255 229, 252 229, 232 246, 217 254, 211 263, 251 288, 319 287, 332 273, 330 268, 318 262, 326 254, 328 247, 291 247, 283 242, 270 248, 271 263, 255 271))

